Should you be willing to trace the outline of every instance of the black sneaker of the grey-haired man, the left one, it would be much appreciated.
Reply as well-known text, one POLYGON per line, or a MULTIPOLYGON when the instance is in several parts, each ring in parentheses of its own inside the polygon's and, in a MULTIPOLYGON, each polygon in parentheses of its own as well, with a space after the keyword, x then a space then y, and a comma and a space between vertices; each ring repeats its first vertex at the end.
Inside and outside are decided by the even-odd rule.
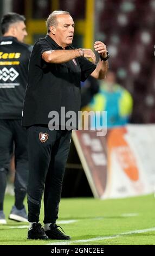
POLYGON ((28 231, 28 239, 44 239, 47 240, 48 236, 44 233, 40 223, 34 223, 33 228, 28 231))

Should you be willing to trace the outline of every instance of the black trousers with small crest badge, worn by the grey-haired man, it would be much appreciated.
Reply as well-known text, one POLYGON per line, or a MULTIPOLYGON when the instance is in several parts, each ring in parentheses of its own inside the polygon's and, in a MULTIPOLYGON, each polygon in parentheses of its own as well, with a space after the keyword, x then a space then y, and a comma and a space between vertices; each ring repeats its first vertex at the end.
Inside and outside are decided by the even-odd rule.
POLYGON ((44 223, 58 218, 62 181, 72 131, 30 126, 28 132, 28 221, 38 222, 44 190, 44 223))

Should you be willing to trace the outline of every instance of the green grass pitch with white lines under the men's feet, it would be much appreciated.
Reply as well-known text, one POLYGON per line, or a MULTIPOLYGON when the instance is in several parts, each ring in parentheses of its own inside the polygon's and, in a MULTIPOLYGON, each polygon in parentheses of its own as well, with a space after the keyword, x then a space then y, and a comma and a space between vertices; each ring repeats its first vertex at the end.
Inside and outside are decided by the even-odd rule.
MULTIPOLYGON (((12 204, 14 197, 6 195, 7 217, 12 204)), ((57 224, 72 240, 27 240, 28 223, 7 218, 7 224, 0 224, 0 245, 155 245, 154 204, 153 194, 110 200, 62 198, 57 224)))

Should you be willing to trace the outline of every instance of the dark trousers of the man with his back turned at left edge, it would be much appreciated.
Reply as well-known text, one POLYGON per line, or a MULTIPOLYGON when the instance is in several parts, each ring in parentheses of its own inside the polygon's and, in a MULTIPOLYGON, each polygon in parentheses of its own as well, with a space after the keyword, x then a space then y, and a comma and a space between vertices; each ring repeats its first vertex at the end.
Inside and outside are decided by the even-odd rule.
POLYGON ((7 173, 15 153, 15 197, 24 199, 28 185, 27 130, 21 120, 0 120, 0 204, 3 204, 7 173))

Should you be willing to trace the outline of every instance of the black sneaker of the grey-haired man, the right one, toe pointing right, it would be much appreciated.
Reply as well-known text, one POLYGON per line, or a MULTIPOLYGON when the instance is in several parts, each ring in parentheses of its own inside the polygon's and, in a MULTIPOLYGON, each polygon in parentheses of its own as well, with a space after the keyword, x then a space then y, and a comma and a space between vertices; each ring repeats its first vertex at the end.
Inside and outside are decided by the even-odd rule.
MULTIPOLYGON (((50 228, 49 230, 45 231, 45 233, 49 237, 49 239, 57 239, 57 240, 69 240, 70 239, 69 235, 63 234, 58 229, 58 228, 61 228, 60 226, 57 226, 56 224, 50 224, 49 228, 50 228)), ((62 231, 63 231, 63 229, 62 229, 62 231)))

